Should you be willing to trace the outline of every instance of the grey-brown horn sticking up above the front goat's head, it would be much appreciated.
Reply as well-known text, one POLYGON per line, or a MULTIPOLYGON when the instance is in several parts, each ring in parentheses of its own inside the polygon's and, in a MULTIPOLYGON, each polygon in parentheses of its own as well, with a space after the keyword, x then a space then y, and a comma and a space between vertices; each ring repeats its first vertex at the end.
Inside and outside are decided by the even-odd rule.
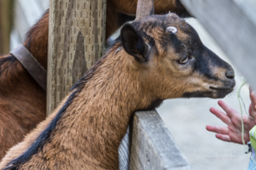
POLYGON ((154 0, 137 0, 136 19, 154 14, 154 0))

